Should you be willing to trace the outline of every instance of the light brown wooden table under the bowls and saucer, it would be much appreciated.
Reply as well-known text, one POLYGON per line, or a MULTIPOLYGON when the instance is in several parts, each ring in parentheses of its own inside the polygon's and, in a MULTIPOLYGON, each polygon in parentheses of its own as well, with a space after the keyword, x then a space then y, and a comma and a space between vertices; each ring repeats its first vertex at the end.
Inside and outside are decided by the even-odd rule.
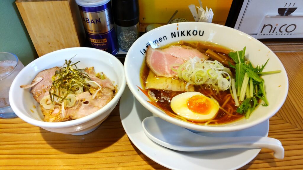
MULTIPOLYGON (((268 44, 288 73, 287 99, 269 123, 269 137, 285 148, 283 160, 262 149, 240 169, 303 169, 303 44, 268 44)), ((48 132, 20 118, 0 119, 0 169, 166 169, 128 139, 119 107, 83 136, 48 132)))

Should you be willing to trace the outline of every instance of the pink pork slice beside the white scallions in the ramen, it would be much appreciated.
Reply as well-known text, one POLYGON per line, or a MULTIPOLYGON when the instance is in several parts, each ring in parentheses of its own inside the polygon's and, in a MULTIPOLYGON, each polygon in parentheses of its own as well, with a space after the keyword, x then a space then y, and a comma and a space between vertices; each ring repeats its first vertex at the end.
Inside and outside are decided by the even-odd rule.
POLYGON ((150 46, 146 51, 146 63, 157 75, 163 77, 177 77, 177 73, 171 70, 172 66, 181 65, 193 57, 207 60, 208 56, 195 48, 188 46, 171 46, 165 49, 154 49, 150 46))

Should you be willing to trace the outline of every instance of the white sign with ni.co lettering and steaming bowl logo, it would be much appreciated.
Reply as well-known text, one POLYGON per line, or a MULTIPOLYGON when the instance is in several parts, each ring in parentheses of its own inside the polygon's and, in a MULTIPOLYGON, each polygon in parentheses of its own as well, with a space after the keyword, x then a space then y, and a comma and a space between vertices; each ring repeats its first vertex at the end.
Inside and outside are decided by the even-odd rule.
POLYGON ((303 38, 303 0, 244 0, 235 29, 254 38, 303 38))

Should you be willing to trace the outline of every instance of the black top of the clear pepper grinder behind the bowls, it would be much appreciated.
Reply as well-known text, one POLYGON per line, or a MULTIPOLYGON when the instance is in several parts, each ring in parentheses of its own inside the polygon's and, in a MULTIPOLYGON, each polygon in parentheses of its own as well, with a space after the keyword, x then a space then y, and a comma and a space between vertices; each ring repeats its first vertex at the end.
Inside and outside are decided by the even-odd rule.
POLYGON ((112 0, 112 10, 115 24, 130 27, 139 22, 138 0, 112 0))

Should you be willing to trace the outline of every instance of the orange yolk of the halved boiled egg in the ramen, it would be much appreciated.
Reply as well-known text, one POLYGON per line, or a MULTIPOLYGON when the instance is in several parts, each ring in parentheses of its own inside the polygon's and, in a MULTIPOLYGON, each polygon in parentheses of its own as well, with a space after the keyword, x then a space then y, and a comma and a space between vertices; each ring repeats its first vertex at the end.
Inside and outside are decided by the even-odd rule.
POLYGON ((192 96, 187 100, 187 107, 195 113, 208 114, 211 108, 211 102, 205 96, 192 96))

